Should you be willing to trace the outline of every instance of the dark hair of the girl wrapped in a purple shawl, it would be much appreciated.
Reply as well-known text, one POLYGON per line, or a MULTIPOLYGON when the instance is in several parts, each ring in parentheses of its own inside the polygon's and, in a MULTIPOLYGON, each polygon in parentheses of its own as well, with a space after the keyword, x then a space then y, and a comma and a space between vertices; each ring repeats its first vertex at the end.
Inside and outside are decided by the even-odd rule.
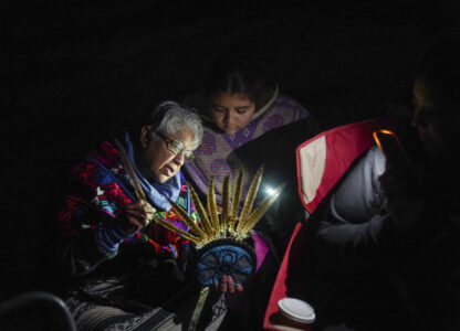
POLYGON ((205 88, 208 98, 222 92, 242 94, 259 108, 273 92, 274 83, 254 60, 226 56, 209 70, 205 88))

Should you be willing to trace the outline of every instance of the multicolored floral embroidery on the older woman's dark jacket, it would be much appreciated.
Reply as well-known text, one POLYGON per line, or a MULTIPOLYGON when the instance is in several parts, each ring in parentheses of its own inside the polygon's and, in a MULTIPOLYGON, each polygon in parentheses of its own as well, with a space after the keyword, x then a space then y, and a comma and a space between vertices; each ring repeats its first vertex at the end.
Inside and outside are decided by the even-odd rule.
MULTIPOLYGON (((82 231, 94 228, 100 223, 113 222, 124 205, 134 202, 134 190, 118 157, 118 150, 112 142, 103 142, 85 161, 72 171, 73 188, 63 207, 59 212, 60 231, 63 236, 74 237, 82 231)), ((190 216, 198 223, 188 196, 188 188, 184 177, 177 203, 189 211, 190 216)), ((188 231, 174 210, 156 214, 188 231)), ((155 252, 168 257, 177 257, 178 252, 188 241, 180 237, 155 222, 151 222, 135 236, 125 241, 124 245, 150 243, 155 252)))

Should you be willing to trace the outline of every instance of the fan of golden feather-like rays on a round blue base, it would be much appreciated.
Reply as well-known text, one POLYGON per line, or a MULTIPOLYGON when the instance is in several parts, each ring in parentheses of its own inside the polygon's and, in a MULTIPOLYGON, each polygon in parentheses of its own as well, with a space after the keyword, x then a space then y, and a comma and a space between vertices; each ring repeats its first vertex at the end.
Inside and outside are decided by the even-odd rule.
POLYGON ((223 275, 232 277, 236 284, 245 284, 253 275, 257 257, 249 244, 250 231, 262 218, 270 206, 276 201, 284 184, 274 190, 253 209, 262 181, 263 166, 251 181, 240 213, 243 191, 243 171, 237 173, 233 184, 230 177, 223 179, 221 213, 219 214, 215 194, 215 179, 209 181, 207 209, 203 207, 195 189, 189 185, 190 197, 201 220, 200 226, 178 204, 170 202, 182 222, 190 228, 185 232, 177 226, 155 218, 168 229, 175 231, 195 243, 197 257, 195 271, 202 286, 219 282, 223 275))

